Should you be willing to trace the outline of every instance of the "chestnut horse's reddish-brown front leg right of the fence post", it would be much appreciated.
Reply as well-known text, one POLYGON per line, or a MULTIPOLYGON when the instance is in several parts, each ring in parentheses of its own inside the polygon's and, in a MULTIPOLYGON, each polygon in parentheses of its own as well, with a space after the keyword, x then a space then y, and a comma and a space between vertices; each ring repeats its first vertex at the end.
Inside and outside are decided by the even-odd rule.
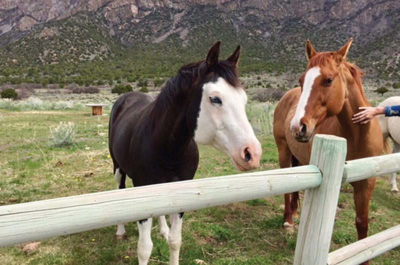
MULTIPOLYGON (((358 240, 367 237, 369 199, 375 186, 375 177, 350 183, 354 188, 355 227, 358 240)), ((360 265, 369 265, 369 260, 360 265)))

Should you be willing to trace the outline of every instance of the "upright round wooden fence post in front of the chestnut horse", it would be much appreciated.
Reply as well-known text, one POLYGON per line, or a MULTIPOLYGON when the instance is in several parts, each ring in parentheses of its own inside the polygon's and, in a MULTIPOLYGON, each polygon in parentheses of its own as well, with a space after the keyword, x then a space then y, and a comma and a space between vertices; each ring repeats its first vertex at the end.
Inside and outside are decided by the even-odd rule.
POLYGON ((322 172, 319 187, 305 190, 293 264, 326 264, 346 157, 346 140, 316 134, 310 164, 322 172))

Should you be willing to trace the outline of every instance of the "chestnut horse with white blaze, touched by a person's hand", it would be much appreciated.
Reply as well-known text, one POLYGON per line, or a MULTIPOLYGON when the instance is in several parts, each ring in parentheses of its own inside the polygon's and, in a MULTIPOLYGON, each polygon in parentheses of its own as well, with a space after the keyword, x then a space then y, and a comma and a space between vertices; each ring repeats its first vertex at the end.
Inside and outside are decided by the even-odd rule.
MULTIPOLYGON (((367 124, 352 123, 360 106, 370 106, 361 85, 361 71, 346 61, 352 39, 337 51, 317 52, 307 40, 308 65, 300 87, 286 92, 276 105, 273 135, 280 167, 308 164, 312 135, 333 134, 347 139, 347 160, 380 155, 383 139, 377 118, 367 124)), ((352 182, 358 239, 367 236, 369 199, 375 177, 352 182)), ((284 227, 294 229, 298 192, 285 194, 284 227)), ((367 264, 367 263, 365 263, 367 264)))

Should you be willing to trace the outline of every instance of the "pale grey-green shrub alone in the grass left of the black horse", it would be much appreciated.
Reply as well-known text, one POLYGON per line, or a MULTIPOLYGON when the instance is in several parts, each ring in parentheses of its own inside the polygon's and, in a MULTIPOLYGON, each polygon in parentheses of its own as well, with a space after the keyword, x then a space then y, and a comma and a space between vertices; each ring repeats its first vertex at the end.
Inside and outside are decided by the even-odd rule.
POLYGON ((51 146, 70 145, 74 142, 76 135, 76 126, 73 122, 60 121, 58 126, 50 126, 50 137, 48 143, 51 146))

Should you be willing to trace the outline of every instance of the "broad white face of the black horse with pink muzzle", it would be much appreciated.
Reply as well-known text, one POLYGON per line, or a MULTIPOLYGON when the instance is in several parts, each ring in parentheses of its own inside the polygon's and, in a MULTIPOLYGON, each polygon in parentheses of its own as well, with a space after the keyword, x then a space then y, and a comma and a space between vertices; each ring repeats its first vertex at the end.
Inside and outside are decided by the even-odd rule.
POLYGON ((246 116, 246 102, 244 90, 232 87, 222 77, 205 83, 194 132, 198 143, 211 144, 229 155, 240 170, 258 166, 261 156, 260 143, 246 116), (211 102, 211 97, 218 97, 221 103, 211 102), (244 161, 246 148, 250 161, 244 161))

